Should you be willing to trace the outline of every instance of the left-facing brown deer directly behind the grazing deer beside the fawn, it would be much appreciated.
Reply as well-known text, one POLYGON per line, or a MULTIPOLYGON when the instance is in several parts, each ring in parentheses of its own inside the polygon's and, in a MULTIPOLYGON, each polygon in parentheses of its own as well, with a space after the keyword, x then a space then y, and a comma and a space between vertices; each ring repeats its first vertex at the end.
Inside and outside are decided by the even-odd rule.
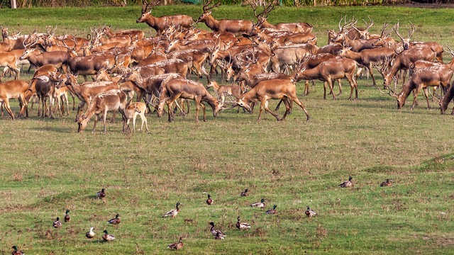
POLYGON ((77 98, 80 100, 79 106, 77 106, 76 122, 82 114, 84 105, 87 104, 87 106, 90 106, 90 102, 92 102, 94 96, 101 92, 119 89, 118 83, 114 81, 85 82, 79 85, 77 83, 77 75, 74 76, 72 74, 62 75, 56 88, 60 89, 62 86, 69 86, 70 90, 74 91, 74 94, 76 94, 77 98))

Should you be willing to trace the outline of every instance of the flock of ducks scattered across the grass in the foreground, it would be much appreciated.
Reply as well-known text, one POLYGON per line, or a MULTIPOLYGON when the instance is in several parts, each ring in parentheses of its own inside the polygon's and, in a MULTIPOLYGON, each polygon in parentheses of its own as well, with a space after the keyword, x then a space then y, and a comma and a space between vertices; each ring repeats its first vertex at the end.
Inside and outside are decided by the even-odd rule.
MULTIPOLYGON (((353 177, 350 176, 348 178, 348 181, 344 181, 343 183, 339 184, 338 188, 352 187, 353 186, 352 180, 353 180, 353 177)), ((380 183, 380 186, 381 187, 392 186, 392 180, 387 179, 386 181, 380 183)), ((96 193, 96 196, 99 199, 105 198, 106 190, 104 188, 101 189, 101 191, 96 193)), ((245 189, 245 191, 242 191, 240 193, 240 196, 244 196, 244 197, 249 196, 248 189, 245 189)), ((213 198, 211 198, 211 195, 208 195, 208 198, 206 199, 206 204, 213 205, 213 203, 214 203, 213 198)), ((164 217, 168 217, 168 216, 172 216, 172 218, 176 217, 179 212, 179 205, 180 205, 180 203, 178 202, 175 209, 172 209, 172 210, 166 212, 164 217)), ((250 206, 253 208, 265 208, 266 207, 265 199, 260 200, 260 202, 253 203, 250 206)), ((267 214, 267 215, 277 214, 276 208, 277 208, 277 205, 273 205, 273 208, 270 210, 267 210, 265 212, 265 214, 267 214)), ((71 222, 71 216, 69 214, 70 212, 71 212, 70 210, 66 210, 65 217, 63 218, 64 222, 71 222)), ((317 213, 314 210, 312 210, 310 206, 307 206, 307 210, 306 210, 305 214, 310 219, 312 216, 316 215, 317 213)), ((121 217, 121 215, 117 214, 113 219, 109 220, 107 223, 111 224, 113 227, 117 227, 118 224, 120 224, 120 222, 121 222, 120 217, 121 217)), ((238 216, 237 220, 238 221, 236 222, 236 227, 238 229, 240 229, 240 230, 250 229, 251 226, 247 222, 241 222, 240 216, 238 216)), ((63 222, 60 221, 60 217, 57 217, 57 219, 52 223, 52 227, 55 227, 55 228, 60 228, 60 227, 62 227, 62 225, 63 225, 63 222)), ((227 236, 221 230, 216 229, 216 227, 214 226, 214 222, 210 222, 209 225, 211 225, 210 233, 214 235, 214 239, 216 239, 216 240, 224 239, 224 237, 227 236)), ((87 237, 87 239, 94 238, 94 236, 96 235, 95 232, 93 231, 94 229, 95 229, 94 227, 90 227, 89 231, 87 233, 85 233, 85 237, 87 237)), ((102 239, 104 239, 105 242, 111 242, 115 239, 115 237, 112 234, 109 234, 109 232, 107 230, 104 230, 102 239)), ((169 244, 167 246, 167 248, 178 250, 178 249, 182 249, 183 245, 184 245, 183 238, 179 237, 179 242, 169 244)), ((24 254, 23 251, 18 250, 17 246, 13 246, 12 249, 14 250, 12 252, 13 255, 23 255, 24 254)))

